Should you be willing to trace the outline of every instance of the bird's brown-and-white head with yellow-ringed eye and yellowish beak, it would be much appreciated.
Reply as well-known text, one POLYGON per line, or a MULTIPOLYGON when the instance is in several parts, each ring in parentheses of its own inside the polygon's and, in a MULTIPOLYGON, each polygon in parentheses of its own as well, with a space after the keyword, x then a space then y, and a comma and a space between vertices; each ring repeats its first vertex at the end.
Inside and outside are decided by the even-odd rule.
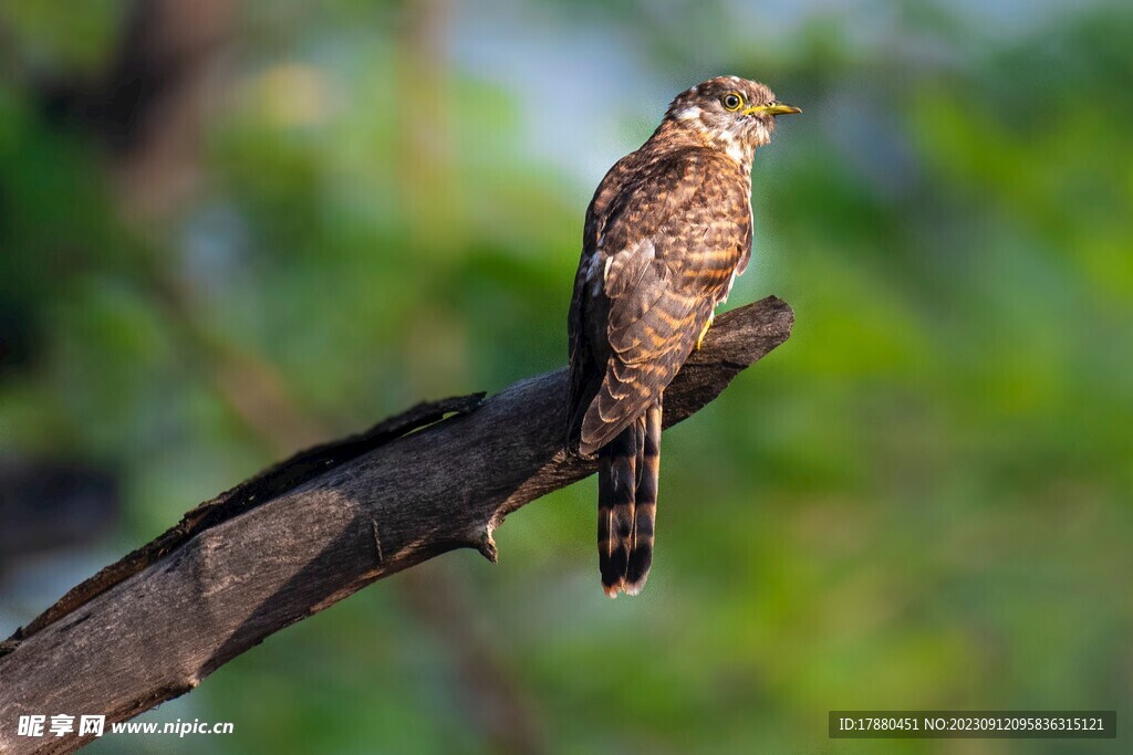
POLYGON ((663 127, 690 131, 706 146, 750 164, 756 147, 770 141, 776 115, 800 112, 759 81, 717 76, 676 95, 663 127))

